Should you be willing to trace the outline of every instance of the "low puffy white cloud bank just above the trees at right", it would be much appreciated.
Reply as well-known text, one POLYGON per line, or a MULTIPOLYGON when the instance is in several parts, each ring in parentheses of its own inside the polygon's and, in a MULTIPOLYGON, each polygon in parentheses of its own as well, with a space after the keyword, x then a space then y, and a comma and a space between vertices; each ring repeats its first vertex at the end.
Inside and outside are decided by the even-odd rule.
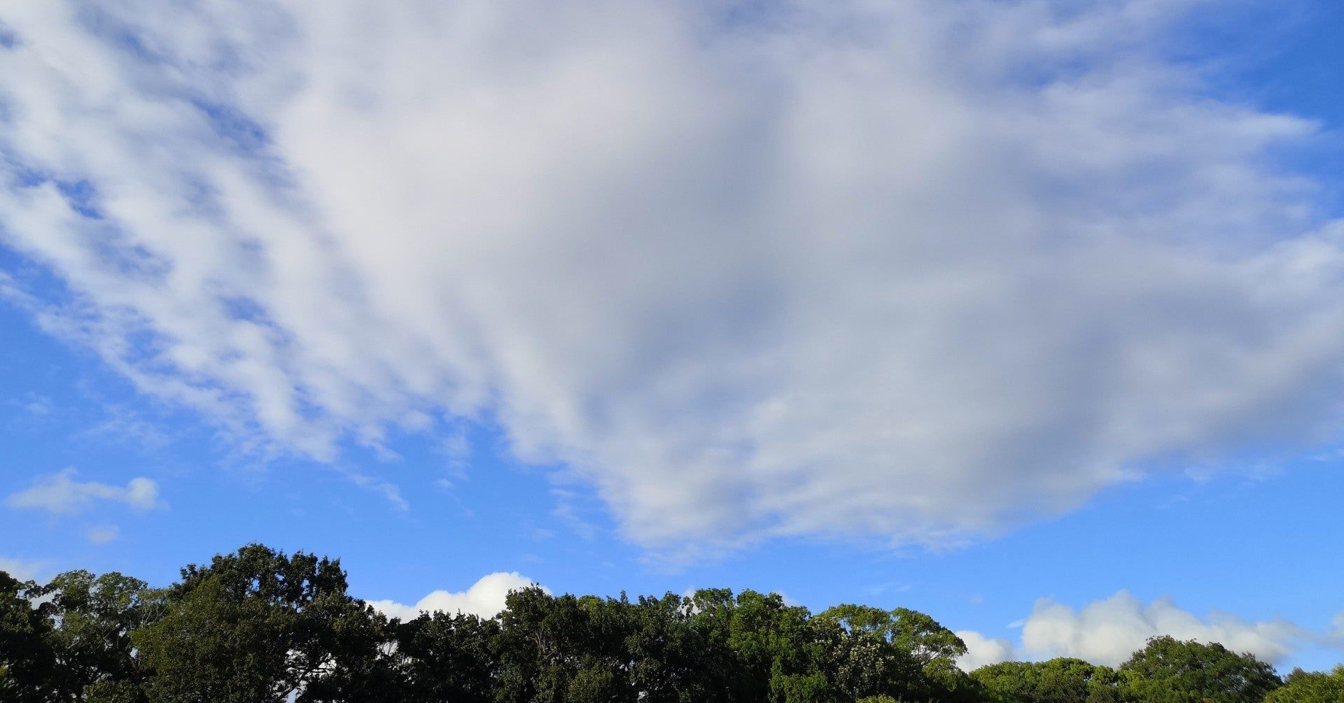
POLYGON ((1339 628, 1312 630, 1284 618, 1247 621, 1216 610, 1199 617, 1183 610, 1171 598, 1157 598, 1145 605, 1124 590, 1081 609, 1042 598, 1023 621, 1020 643, 1016 644, 974 630, 957 634, 966 643, 966 656, 958 661, 966 671, 996 661, 1060 656, 1114 667, 1142 649, 1150 637, 1163 634, 1219 643, 1274 664, 1284 663, 1305 645, 1344 649, 1344 632, 1339 628))

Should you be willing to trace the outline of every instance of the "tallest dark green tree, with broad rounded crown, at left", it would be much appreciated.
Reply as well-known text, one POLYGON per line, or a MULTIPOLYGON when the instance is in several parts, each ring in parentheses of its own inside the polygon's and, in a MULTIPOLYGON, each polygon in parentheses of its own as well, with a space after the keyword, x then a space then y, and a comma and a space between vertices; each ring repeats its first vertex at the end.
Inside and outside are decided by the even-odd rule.
POLYGON ((382 633, 340 562, 249 544, 184 569, 132 638, 151 702, 280 703, 319 700, 314 684, 367 667, 382 633))

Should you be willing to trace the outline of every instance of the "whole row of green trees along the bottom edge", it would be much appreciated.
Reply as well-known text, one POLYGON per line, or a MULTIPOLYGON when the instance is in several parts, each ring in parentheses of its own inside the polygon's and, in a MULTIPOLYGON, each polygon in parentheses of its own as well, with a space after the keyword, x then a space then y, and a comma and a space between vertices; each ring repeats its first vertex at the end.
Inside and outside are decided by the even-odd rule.
POLYGON ((1218 644, 957 668, 931 617, 704 589, 511 593, 493 618, 387 618, 335 559, 261 544, 165 589, 117 573, 0 571, 4 703, 1344 703, 1344 667, 1286 680, 1218 644))

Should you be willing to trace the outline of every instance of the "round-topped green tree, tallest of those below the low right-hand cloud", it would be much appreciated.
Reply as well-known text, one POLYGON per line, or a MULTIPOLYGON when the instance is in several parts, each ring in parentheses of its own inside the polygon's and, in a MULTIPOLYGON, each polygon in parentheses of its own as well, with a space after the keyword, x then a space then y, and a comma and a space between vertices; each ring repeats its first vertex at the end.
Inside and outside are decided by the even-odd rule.
POLYGON ((1282 686, 1274 667, 1254 655, 1169 636, 1148 640, 1120 667, 1120 677, 1141 703, 1259 703, 1282 686))

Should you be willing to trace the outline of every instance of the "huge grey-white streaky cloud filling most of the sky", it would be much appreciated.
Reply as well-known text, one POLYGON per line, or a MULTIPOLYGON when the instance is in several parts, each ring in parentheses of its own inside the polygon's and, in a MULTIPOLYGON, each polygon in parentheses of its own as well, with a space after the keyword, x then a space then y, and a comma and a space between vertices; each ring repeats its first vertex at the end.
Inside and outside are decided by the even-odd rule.
POLYGON ((1316 126, 1199 4, 9 3, 3 289, 257 449, 489 418, 644 544, 952 543, 1339 434, 1316 126))

